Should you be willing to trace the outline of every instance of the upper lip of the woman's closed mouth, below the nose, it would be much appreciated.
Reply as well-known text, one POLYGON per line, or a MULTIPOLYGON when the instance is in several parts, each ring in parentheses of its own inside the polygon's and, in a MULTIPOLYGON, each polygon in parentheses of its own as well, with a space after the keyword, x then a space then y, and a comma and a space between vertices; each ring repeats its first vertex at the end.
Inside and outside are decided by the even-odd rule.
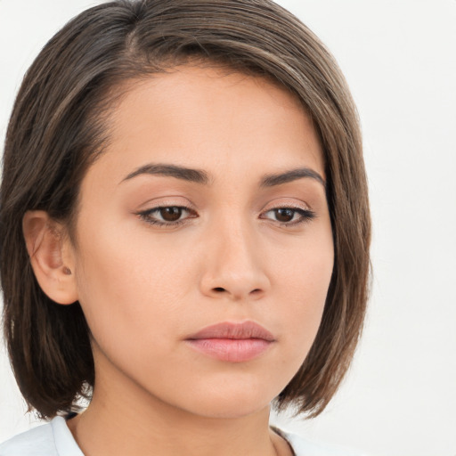
POLYGON ((189 340, 201 338, 232 338, 247 339, 261 338, 272 342, 273 334, 255 322, 222 322, 207 326, 188 338, 189 340))

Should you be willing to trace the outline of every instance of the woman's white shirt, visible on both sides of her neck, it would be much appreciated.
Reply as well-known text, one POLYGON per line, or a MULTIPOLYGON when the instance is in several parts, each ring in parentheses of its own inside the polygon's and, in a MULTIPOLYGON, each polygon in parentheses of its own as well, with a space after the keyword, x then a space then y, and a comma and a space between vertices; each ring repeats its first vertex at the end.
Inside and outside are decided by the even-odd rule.
MULTIPOLYGON (((296 456, 362 456, 359 453, 315 444, 300 436, 279 430, 296 456)), ((67 422, 55 417, 49 423, 30 429, 0 444, 0 456, 84 456, 77 446, 67 422)))

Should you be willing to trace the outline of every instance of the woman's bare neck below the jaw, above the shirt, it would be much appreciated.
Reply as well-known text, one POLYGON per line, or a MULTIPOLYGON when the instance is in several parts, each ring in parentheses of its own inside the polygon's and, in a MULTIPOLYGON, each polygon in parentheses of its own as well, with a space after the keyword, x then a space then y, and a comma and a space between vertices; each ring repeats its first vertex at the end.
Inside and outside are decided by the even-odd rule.
POLYGON ((141 387, 97 379, 87 410, 69 420, 85 456, 276 456, 289 446, 269 428, 269 406, 240 417, 205 417, 160 401, 141 387))

